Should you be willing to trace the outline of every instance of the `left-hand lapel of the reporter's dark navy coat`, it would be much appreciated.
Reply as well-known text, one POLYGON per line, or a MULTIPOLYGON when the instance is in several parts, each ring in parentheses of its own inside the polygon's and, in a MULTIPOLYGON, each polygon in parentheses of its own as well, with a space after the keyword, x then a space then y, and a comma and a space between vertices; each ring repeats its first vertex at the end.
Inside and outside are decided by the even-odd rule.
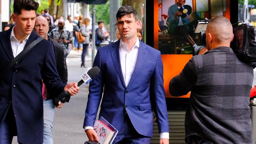
POLYGON ((13 27, 11 27, 9 30, 4 31, 4 36, 0 39, 2 42, 2 47, 6 51, 7 56, 9 57, 10 61, 14 59, 13 57, 13 50, 11 49, 11 30, 13 27))

